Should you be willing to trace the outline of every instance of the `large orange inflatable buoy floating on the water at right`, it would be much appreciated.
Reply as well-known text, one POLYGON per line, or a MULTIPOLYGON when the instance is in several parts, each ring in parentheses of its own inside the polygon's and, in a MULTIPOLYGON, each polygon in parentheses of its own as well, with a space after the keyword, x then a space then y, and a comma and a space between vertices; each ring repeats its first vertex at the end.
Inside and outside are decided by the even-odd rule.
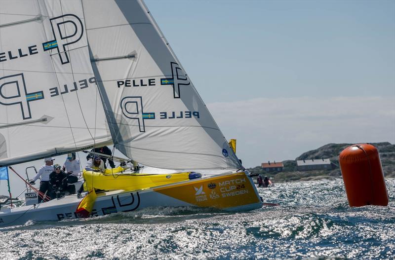
POLYGON ((374 146, 350 146, 340 153, 339 163, 351 207, 388 205, 388 192, 380 156, 374 146))

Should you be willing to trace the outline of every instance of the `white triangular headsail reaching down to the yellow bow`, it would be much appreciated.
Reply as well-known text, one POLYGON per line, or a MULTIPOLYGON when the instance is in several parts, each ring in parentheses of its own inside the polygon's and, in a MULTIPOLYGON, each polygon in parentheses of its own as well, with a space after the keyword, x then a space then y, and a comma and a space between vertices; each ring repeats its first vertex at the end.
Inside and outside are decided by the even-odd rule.
POLYGON ((240 163, 140 0, 83 0, 93 71, 114 144, 166 169, 240 163))

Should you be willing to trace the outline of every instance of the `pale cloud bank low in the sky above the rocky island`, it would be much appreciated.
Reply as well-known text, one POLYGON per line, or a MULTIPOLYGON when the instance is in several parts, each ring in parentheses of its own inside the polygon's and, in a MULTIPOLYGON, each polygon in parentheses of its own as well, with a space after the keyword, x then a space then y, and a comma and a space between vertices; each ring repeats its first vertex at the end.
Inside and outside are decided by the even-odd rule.
POLYGON ((327 143, 395 143, 395 97, 257 98, 207 107, 244 166, 327 143))

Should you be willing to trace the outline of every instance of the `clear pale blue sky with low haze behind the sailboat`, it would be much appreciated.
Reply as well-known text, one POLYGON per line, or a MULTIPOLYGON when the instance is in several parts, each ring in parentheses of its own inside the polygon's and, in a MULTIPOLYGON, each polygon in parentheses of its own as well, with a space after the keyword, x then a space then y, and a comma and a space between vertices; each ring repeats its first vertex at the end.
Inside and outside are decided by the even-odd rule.
MULTIPOLYGON (((395 143, 395 1, 146 5, 245 167, 328 143, 395 143)), ((17 195, 24 185, 10 180, 17 195)))

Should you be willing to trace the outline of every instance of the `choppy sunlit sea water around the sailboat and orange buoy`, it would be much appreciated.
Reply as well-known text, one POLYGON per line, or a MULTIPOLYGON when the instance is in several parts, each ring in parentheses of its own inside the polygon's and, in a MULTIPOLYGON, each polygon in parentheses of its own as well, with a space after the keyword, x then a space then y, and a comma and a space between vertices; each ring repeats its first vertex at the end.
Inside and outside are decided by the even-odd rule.
POLYGON ((341 179, 258 188, 280 206, 157 208, 0 229, 0 259, 395 259, 388 207, 350 208, 341 179))

